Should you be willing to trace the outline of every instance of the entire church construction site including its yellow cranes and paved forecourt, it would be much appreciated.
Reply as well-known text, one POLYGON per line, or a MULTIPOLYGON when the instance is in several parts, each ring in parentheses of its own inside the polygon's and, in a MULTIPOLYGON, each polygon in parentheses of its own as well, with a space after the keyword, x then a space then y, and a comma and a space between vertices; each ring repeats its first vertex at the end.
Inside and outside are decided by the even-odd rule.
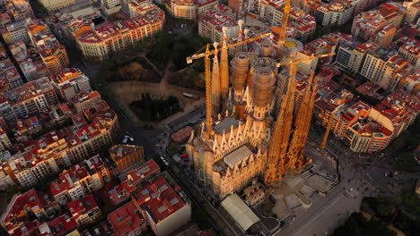
MULTIPOLYGON (((290 8, 291 1, 285 1, 282 25, 287 25, 290 8)), ((224 199, 222 205, 258 180, 266 186, 266 198, 278 198, 289 212, 310 207, 313 192, 327 193, 336 185, 317 174, 302 177, 312 167, 312 158, 305 153, 319 82, 312 64, 334 54, 302 54, 302 43, 287 38, 285 27, 278 35, 249 38, 244 21, 238 25, 237 38, 228 40, 228 29, 223 28, 221 45, 208 44, 187 58, 188 63, 204 58, 206 67, 206 121, 186 145, 195 178, 201 180, 207 198, 224 199), (230 63, 228 55, 233 55, 230 63), (300 92, 297 72, 308 75, 300 92)), ((278 216, 284 219, 286 213, 278 216)), ((262 228, 269 233, 278 230, 256 221, 242 231, 262 228)))

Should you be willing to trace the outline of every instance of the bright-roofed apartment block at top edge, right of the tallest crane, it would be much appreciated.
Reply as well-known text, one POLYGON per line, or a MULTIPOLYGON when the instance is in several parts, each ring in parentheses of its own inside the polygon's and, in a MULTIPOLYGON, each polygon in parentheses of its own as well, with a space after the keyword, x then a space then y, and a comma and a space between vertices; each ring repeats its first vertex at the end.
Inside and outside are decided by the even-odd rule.
POLYGON ((315 13, 317 22, 325 27, 339 26, 350 21, 354 5, 346 1, 320 5, 315 13))

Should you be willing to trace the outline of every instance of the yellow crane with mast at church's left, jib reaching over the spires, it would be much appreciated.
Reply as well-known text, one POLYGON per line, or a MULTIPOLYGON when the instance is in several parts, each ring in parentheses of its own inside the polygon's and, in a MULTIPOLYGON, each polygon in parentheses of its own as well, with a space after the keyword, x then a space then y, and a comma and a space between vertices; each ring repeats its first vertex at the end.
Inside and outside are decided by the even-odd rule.
MULTIPOLYGON (((265 33, 265 34, 261 34, 255 38, 249 38, 249 39, 245 39, 241 42, 237 42, 235 44, 232 45, 228 45, 226 46, 226 49, 235 47, 235 46, 240 46, 240 45, 244 45, 244 44, 248 44, 250 42, 256 41, 260 38, 266 38, 269 37, 271 35, 271 33, 265 33)), ((212 73, 210 72, 210 55, 214 55, 214 53, 216 52, 215 50, 211 50, 210 51, 210 46, 211 44, 207 44, 206 46, 203 46, 200 50, 197 51, 197 53, 195 53, 194 55, 188 56, 187 57, 187 63, 192 63, 194 60, 197 60, 201 57, 205 57, 205 76, 206 76, 206 126, 207 126, 207 131, 209 131, 209 133, 212 133, 212 89, 211 89, 211 78, 212 78, 212 73), (204 53, 202 53, 203 50, 206 51, 204 53)), ((219 50, 217 50, 219 51, 219 50)))

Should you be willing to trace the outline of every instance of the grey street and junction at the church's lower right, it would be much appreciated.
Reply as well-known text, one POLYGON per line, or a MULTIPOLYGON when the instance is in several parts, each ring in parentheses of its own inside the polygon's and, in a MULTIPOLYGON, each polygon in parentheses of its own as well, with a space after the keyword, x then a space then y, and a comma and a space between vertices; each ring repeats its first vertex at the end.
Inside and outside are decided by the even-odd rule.
MULTIPOLYGON (((325 198, 314 198, 313 205, 309 209, 298 209, 292 223, 286 225, 275 235, 293 236, 320 236, 328 235, 339 225, 346 222, 352 212, 358 211, 364 196, 377 196, 379 193, 395 192, 386 182, 391 181, 383 175, 384 168, 391 159, 390 156, 382 156, 373 164, 359 164, 361 162, 357 154, 351 152, 341 141, 331 138, 325 150, 319 149, 322 136, 310 132, 307 142, 306 154, 313 158, 314 164, 323 160, 323 168, 331 171, 334 165, 328 156, 338 160, 340 183, 330 190, 325 198), (338 154, 339 153, 339 154, 338 154), (328 164, 330 163, 330 164, 328 164)), ((392 180, 395 181, 395 180, 392 180)))

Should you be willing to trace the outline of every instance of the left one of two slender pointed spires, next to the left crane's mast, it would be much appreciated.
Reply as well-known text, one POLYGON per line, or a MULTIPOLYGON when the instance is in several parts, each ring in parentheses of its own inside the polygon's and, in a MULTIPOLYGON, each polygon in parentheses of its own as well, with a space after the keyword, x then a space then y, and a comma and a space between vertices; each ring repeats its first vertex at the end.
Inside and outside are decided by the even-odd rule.
POLYGON ((220 88, 220 69, 219 69, 219 60, 217 46, 219 43, 214 43, 214 59, 213 59, 213 72, 212 72, 212 114, 214 117, 213 121, 217 121, 217 114, 220 113, 221 105, 221 88, 220 88))

